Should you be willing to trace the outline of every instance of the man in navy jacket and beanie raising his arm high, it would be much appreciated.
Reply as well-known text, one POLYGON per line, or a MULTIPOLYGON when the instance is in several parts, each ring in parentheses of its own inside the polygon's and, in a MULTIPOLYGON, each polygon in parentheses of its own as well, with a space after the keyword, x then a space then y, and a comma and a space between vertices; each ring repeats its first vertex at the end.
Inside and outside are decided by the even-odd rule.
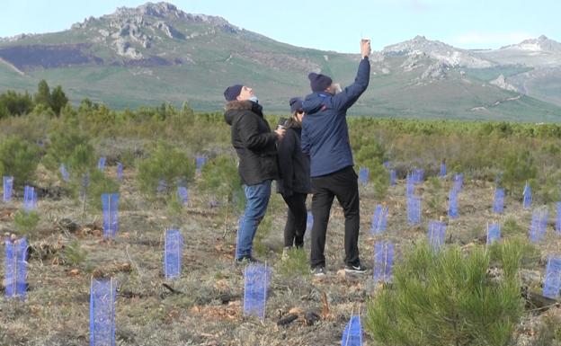
POLYGON ((370 81, 370 40, 361 40, 361 63, 354 83, 341 93, 330 77, 308 75, 311 94, 302 104, 302 152, 310 156, 312 182, 312 227, 310 266, 316 276, 325 275, 325 234, 336 197, 345 217, 344 249, 347 272, 364 273, 359 258, 359 187, 353 169, 347 110, 368 87, 370 81))

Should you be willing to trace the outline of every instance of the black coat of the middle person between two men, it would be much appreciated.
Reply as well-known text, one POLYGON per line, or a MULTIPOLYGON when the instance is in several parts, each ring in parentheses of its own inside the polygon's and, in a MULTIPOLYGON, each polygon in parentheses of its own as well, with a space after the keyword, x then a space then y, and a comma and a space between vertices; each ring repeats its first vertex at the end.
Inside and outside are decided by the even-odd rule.
POLYGON ((302 153, 300 138, 302 127, 289 120, 286 135, 278 145, 280 180, 277 192, 290 196, 294 192, 311 193, 309 156, 302 153))

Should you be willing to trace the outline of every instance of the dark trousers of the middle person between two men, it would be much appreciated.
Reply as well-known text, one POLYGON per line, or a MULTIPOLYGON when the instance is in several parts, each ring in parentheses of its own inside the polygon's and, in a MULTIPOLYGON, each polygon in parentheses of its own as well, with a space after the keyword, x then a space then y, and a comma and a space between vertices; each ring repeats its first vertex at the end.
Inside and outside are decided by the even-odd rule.
POLYGON ((284 246, 302 247, 307 222, 307 193, 293 193, 288 197, 282 195, 282 198, 289 207, 287 223, 284 226, 284 246))

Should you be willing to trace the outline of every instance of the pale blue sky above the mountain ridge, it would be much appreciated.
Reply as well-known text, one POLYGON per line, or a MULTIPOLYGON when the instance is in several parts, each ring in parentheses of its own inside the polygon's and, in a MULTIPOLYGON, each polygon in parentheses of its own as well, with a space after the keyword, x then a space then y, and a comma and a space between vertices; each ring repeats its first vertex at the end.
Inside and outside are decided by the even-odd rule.
MULTIPOLYGON (((134 0, 2 0, 0 37, 69 29, 134 0)), ((156 1, 153 1, 156 2, 156 1)), ((423 35, 463 49, 497 49, 546 35, 561 41, 559 0, 170 0, 186 13, 219 15, 291 45, 355 53, 423 35)))

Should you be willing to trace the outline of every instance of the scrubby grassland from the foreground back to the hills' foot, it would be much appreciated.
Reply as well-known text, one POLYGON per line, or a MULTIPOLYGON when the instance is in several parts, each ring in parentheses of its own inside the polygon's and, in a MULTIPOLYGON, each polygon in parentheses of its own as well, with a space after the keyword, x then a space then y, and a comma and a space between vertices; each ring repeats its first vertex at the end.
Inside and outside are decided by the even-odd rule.
MULTIPOLYGON (((165 140, 190 160, 195 155, 207 155, 209 167, 234 155, 221 114, 170 112, 164 116, 153 109, 144 113, 81 109, 66 111, 54 119, 31 114, 1 120, 0 143, 17 134, 30 145, 42 142, 44 146, 38 149, 40 164, 31 182, 40 189, 39 226, 32 232, 14 230, 14 215, 22 208, 20 188, 12 202, 0 204, 0 229, 4 235, 26 234, 31 243, 27 299, 0 299, 0 344, 88 344, 89 285, 93 275, 111 276, 118 283, 115 311, 119 345, 341 344, 343 328, 352 311, 365 315, 367 301, 382 289, 373 281, 371 269, 363 276, 344 275, 341 271, 342 209, 335 203, 330 218, 328 275, 316 279, 307 269, 308 240, 304 253, 292 253, 289 261, 281 261, 286 207, 279 195, 272 195, 255 240, 256 257, 272 268, 266 317, 263 321, 245 317, 244 267, 236 265, 233 257, 239 209, 225 202, 228 198, 224 190, 209 189, 213 177, 205 173, 212 171, 203 170, 202 176, 188 182, 191 199, 179 208, 170 200, 173 193, 156 195, 140 188, 139 167, 155 155, 152 150, 158 140, 165 140), (55 140, 52 134, 76 129, 88 137, 94 157, 107 158, 105 176, 109 179, 116 176, 117 162, 125 164, 124 179, 118 185, 120 231, 111 242, 102 239, 99 208, 88 202, 84 213, 82 201, 73 197, 73 188, 60 179, 58 165, 48 168, 47 158, 55 140), (68 227, 68 220, 76 227, 68 227), (163 242, 165 229, 171 227, 179 227, 185 239, 183 271, 179 279, 166 280, 163 242), (298 319, 286 326, 277 325, 280 317, 289 312, 298 315, 298 319), (306 324, 305 315, 310 312, 319 316, 313 325, 306 324)), ((521 186, 528 180, 535 193, 533 208, 546 206, 550 218, 545 240, 523 263, 519 279, 521 287, 541 292, 545 262, 548 255, 559 254, 561 245, 561 236, 554 230, 554 203, 561 200, 559 126, 353 119, 350 129, 355 169, 367 166, 371 173, 370 182, 361 185, 362 262, 371 268, 374 243, 388 239, 396 244, 399 263, 415 242, 426 237, 429 220, 441 217, 448 224, 447 246, 459 244, 465 252, 485 243, 486 225, 493 221, 503 225, 503 238, 527 239, 532 210, 521 206, 521 186), (530 156, 520 155, 524 151, 530 156), (442 159, 447 160, 449 175, 438 179, 435 174, 442 159), (381 167, 386 160, 397 171, 396 186, 387 186, 388 173, 381 167), (530 169, 521 170, 521 166, 530 169), (403 179, 414 167, 425 169, 427 175, 415 188, 423 198, 420 226, 409 226, 406 218, 403 179), (531 168, 535 172, 530 172, 531 168), (458 219, 447 217, 453 173, 466 174, 459 193, 458 219), (503 186, 508 191, 503 215, 492 213, 499 173, 503 173, 503 186), (389 208, 387 233, 370 235, 370 220, 378 203, 386 203, 389 208)), ((228 167, 235 169, 235 165, 228 167)), ((226 176, 231 180, 234 175, 226 176)), ((4 271, 4 262, 0 271, 4 271)), ((510 344, 559 344, 559 326, 551 323, 558 318, 558 307, 529 307, 510 344)), ((366 333, 364 344, 382 343, 366 333)))

